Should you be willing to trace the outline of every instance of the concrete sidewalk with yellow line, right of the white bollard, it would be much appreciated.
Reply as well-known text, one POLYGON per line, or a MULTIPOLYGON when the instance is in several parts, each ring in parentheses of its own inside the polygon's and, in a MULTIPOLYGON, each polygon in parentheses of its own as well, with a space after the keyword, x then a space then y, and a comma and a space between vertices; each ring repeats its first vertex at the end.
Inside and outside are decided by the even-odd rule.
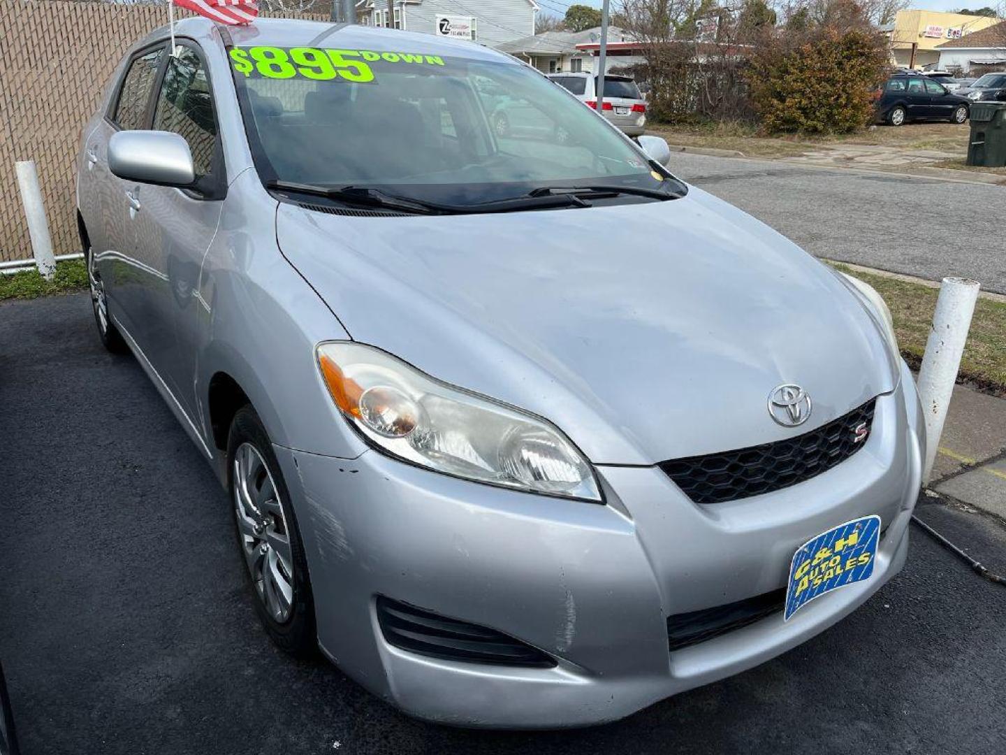
POLYGON ((1006 522, 1006 399, 954 389, 929 487, 1006 522))

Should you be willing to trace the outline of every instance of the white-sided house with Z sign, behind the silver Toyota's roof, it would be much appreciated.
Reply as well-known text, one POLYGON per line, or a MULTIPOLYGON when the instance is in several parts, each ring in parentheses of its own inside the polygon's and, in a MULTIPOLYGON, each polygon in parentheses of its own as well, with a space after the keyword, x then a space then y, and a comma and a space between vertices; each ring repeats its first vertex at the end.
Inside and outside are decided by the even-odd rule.
POLYGON ((356 4, 361 24, 471 39, 490 47, 533 35, 537 12, 534 0, 360 0, 356 4))

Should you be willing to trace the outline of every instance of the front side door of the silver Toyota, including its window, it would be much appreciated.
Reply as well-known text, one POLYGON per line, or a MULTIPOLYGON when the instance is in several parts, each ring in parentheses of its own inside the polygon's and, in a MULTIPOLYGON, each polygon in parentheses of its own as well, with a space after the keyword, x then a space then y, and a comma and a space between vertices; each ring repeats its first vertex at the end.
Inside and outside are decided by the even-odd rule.
POLYGON ((200 319, 199 275, 216 234, 226 192, 216 109, 201 50, 181 39, 169 57, 153 105, 151 128, 182 136, 195 168, 191 188, 145 184, 134 187, 137 256, 152 271, 156 308, 146 335, 148 358, 190 418, 195 417, 195 354, 200 319))

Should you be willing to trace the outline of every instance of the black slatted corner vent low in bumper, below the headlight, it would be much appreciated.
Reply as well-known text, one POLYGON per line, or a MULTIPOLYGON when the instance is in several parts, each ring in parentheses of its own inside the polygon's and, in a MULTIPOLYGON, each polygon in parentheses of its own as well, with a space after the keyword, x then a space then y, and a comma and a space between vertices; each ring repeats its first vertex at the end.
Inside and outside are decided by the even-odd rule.
POLYGON ((496 665, 553 666, 549 655, 495 629, 449 619, 380 596, 377 621, 390 644, 448 660, 496 665))

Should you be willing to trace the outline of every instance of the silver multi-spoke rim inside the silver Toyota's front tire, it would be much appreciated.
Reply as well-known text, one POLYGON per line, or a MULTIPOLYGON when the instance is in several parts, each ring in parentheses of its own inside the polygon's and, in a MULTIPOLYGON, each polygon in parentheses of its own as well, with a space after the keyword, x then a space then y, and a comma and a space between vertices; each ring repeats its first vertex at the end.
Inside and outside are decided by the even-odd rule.
POLYGON ((283 502, 262 454, 250 443, 237 447, 233 475, 244 561, 267 612, 282 624, 294 606, 294 560, 283 502))

